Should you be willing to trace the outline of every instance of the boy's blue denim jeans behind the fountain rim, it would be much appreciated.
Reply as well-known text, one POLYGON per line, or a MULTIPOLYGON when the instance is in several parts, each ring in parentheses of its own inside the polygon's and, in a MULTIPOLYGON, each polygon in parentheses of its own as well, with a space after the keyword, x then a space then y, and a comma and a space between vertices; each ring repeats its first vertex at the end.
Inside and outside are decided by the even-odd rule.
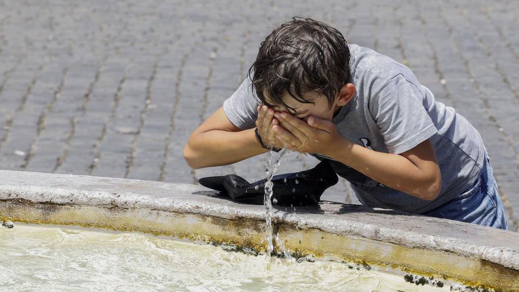
POLYGON ((422 215, 508 229, 494 170, 486 151, 481 174, 472 187, 459 197, 422 215))

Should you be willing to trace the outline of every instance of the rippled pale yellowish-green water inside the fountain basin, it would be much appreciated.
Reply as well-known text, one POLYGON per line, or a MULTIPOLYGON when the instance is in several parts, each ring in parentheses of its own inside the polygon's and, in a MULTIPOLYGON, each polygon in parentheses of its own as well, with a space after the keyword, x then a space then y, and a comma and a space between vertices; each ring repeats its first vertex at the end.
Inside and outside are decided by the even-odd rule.
POLYGON ((448 291, 335 262, 23 223, 0 228, 0 273, 0 291, 448 291))

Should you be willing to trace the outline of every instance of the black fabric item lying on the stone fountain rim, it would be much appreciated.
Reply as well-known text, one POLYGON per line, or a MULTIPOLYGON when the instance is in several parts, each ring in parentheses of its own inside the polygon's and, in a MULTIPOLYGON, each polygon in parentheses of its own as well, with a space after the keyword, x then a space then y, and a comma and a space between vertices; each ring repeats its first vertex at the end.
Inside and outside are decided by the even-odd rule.
MULTIPOLYGON (((238 175, 205 177, 198 180, 204 187, 226 193, 234 201, 263 205, 267 179, 249 183, 238 175)), ((338 181, 328 161, 316 167, 272 177, 272 205, 315 205, 322 193, 338 181)))

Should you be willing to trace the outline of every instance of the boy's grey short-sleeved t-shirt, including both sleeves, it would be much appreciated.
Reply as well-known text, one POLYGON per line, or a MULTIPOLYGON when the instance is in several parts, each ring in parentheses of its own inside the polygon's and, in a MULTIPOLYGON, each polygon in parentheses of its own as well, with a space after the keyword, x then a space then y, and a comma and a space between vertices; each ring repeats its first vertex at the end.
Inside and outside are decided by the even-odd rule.
MULTIPOLYGON (((370 48, 348 46, 356 94, 333 118, 340 135, 363 147, 394 154, 430 139, 442 173, 440 195, 426 201, 331 161, 337 174, 350 182, 359 201, 370 207, 421 214, 469 189, 479 176, 486 151, 480 133, 454 108, 435 101, 432 92, 405 65, 370 48)), ((251 80, 245 78, 223 107, 231 123, 250 129, 255 127, 257 105, 251 80)))

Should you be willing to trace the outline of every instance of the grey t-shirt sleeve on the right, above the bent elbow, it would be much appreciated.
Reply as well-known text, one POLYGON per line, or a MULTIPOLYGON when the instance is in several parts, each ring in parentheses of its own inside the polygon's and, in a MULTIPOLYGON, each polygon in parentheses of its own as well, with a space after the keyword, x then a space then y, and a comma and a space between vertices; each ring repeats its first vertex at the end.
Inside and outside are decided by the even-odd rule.
POLYGON ((401 74, 391 78, 371 98, 369 110, 389 153, 410 150, 438 132, 420 90, 401 74))

